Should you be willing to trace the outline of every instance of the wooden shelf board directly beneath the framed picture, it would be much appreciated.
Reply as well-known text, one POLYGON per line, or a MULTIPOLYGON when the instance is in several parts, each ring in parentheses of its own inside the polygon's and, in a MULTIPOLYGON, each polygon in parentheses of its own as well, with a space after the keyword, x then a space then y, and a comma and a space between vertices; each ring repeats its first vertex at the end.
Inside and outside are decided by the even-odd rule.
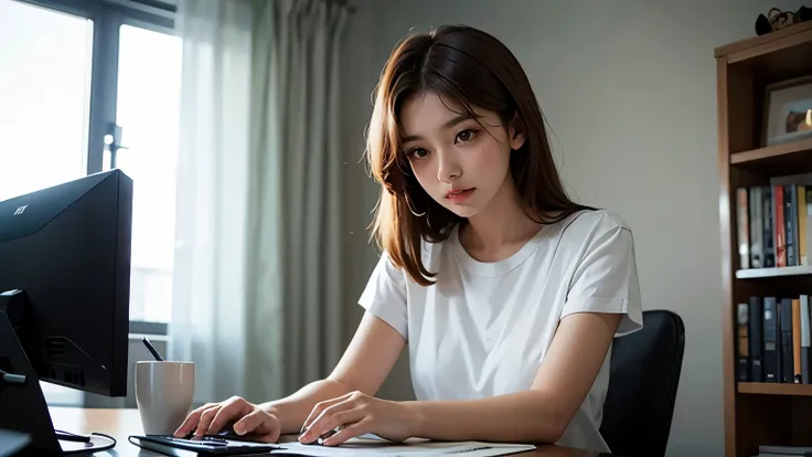
POLYGON ((812 171, 812 138, 734 152, 730 164, 770 174, 812 171))

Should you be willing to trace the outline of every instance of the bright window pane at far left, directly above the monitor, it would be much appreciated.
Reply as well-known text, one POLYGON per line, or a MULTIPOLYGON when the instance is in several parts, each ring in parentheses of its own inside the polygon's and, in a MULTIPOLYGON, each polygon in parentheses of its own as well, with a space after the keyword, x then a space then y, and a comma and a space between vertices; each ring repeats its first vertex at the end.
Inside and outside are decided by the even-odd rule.
POLYGON ((0 200, 85 172, 93 21, 0 2, 0 200), (43 71, 47 68, 47 71, 43 71), (46 132, 46 135, 43 135, 46 132))

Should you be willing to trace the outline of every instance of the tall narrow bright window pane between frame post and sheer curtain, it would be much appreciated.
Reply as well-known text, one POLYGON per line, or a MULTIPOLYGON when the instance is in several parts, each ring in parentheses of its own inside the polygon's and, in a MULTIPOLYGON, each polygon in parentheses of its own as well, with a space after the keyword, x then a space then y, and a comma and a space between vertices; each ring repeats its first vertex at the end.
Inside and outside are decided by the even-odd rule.
POLYGON ((127 149, 116 160, 133 180, 132 320, 170 318, 181 51, 178 36, 120 28, 116 123, 127 149))

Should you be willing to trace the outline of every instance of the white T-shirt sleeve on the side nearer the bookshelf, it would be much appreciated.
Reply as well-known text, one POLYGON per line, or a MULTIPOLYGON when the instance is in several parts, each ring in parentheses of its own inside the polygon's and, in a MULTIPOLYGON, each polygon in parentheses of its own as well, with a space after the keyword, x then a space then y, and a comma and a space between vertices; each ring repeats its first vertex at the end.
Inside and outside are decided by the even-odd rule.
POLYGON ((634 241, 628 226, 601 217, 575 268, 562 318, 575 312, 623 313, 616 336, 643 326, 634 241))

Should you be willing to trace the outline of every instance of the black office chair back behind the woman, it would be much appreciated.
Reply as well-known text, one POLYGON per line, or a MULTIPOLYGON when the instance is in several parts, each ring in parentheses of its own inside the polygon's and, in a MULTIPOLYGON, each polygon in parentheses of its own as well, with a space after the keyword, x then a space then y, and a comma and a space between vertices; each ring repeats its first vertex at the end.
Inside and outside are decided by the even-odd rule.
POLYGON ((665 455, 685 348, 685 326, 667 310, 643 311, 643 328, 616 338, 600 433, 612 454, 665 455))

